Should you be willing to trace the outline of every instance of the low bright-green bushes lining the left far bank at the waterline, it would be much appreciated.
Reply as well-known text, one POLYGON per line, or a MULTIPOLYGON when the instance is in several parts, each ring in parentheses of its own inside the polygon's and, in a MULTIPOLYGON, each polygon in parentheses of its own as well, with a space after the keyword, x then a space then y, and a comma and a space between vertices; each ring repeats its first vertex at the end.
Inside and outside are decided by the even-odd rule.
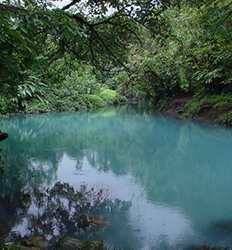
POLYGON ((78 112, 125 103, 127 103, 126 97, 109 88, 100 88, 92 94, 70 92, 66 95, 57 95, 54 94, 54 91, 50 91, 46 93, 44 99, 26 99, 21 105, 10 99, 10 97, 0 95, 0 115, 78 112), (8 103, 6 100, 8 100, 8 103))

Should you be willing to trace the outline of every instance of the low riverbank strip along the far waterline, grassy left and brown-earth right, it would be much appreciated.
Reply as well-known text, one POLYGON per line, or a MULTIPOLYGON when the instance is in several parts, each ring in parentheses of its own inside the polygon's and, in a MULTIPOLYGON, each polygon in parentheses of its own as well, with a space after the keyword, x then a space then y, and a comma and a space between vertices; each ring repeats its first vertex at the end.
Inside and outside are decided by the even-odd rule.
MULTIPOLYGON (((24 111, 1 113, 0 115, 16 115, 16 114, 39 114, 49 112, 77 112, 81 110, 96 110, 107 106, 133 105, 140 106, 139 101, 131 102, 126 97, 118 94, 116 91, 109 90, 101 97, 101 102, 92 103, 91 105, 83 105, 76 107, 75 102, 65 105, 62 108, 52 107, 48 103, 39 102, 28 103, 24 111), (108 93, 110 92, 110 94, 108 93), (99 104, 101 103, 101 104, 99 104)), ((94 99, 95 100, 95 99, 94 99)), ((142 105, 147 106, 147 105, 142 105)), ((145 108, 146 109, 146 108, 145 108)), ((204 97, 194 97, 188 94, 182 94, 172 99, 161 99, 156 104, 149 105, 149 110, 178 119, 189 119, 204 123, 218 124, 226 127, 232 127, 232 95, 211 95, 204 97)))

